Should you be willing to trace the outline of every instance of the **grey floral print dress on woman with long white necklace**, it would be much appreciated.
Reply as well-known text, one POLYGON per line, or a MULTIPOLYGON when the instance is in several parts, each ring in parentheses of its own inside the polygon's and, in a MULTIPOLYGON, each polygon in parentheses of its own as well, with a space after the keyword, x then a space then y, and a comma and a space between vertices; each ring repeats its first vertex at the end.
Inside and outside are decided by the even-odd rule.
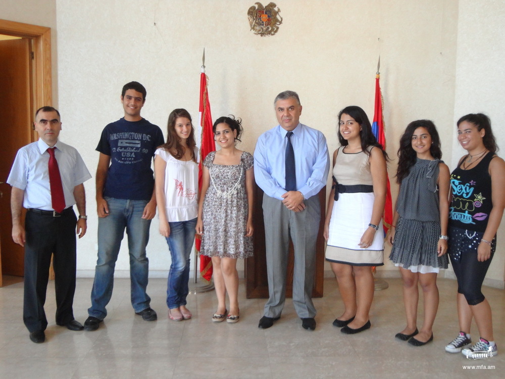
POLYGON ((245 171, 254 165, 252 155, 243 152, 238 165, 216 165, 211 152, 204 166, 211 176, 204 199, 204 234, 200 253, 208 257, 252 257, 252 237, 246 237, 248 202, 245 171))

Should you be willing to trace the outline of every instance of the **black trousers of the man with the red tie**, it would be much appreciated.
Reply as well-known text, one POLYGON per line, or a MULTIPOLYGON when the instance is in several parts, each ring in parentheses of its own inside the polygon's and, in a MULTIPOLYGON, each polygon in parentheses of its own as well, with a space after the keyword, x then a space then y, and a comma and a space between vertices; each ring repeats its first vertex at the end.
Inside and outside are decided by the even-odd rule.
POLYGON ((64 210, 59 217, 40 214, 36 210, 26 212, 23 321, 30 332, 47 327, 44 303, 52 254, 56 323, 64 325, 74 319, 76 224, 77 218, 72 207, 64 210))

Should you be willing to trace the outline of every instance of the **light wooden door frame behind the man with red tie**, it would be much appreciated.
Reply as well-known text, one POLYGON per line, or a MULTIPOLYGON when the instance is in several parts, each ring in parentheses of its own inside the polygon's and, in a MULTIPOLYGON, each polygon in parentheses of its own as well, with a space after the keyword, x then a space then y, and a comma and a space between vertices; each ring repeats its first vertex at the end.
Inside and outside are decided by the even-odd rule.
MULTIPOLYGON (((30 114, 43 106, 53 105, 53 71, 51 64, 51 28, 0 19, 0 34, 30 38, 33 51, 32 71, 32 107, 30 114)), ((33 121, 33 120, 32 120, 33 121)), ((36 139, 31 133, 32 141, 36 139)), ((0 248, 1 249, 1 248, 0 248)), ((0 250, 0 257, 2 251, 0 250)), ((50 277, 54 277, 51 269, 50 277)), ((2 280, 2 262, 0 261, 0 287, 2 280)))

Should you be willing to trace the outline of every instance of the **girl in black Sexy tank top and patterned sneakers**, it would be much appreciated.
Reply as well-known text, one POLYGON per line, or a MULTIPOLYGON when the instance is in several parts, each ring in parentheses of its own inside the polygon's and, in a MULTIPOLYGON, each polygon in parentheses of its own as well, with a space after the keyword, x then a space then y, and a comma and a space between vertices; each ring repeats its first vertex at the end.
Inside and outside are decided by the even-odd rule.
POLYGON ((468 154, 452 171, 449 209, 449 258, 458 279, 460 333, 446 347, 467 358, 498 353, 493 337, 491 307, 481 292, 496 250, 496 231, 505 208, 505 162, 498 150, 489 118, 468 114, 458 121, 458 140, 468 154), (472 317, 480 339, 470 347, 472 317))

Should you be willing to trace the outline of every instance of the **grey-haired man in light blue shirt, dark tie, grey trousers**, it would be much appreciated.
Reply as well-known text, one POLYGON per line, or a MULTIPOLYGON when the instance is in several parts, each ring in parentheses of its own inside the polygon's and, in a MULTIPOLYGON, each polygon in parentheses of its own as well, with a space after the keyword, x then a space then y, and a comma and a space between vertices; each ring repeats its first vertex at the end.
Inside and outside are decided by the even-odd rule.
POLYGON ((312 302, 312 288, 321 217, 317 195, 328 177, 328 147, 323 133, 299 122, 302 107, 296 92, 279 93, 274 106, 279 125, 258 138, 254 152, 256 182, 264 191, 269 290, 265 313, 258 326, 269 328, 280 318, 286 296, 291 238, 294 247, 293 304, 302 326, 314 330, 316 308, 312 302))

